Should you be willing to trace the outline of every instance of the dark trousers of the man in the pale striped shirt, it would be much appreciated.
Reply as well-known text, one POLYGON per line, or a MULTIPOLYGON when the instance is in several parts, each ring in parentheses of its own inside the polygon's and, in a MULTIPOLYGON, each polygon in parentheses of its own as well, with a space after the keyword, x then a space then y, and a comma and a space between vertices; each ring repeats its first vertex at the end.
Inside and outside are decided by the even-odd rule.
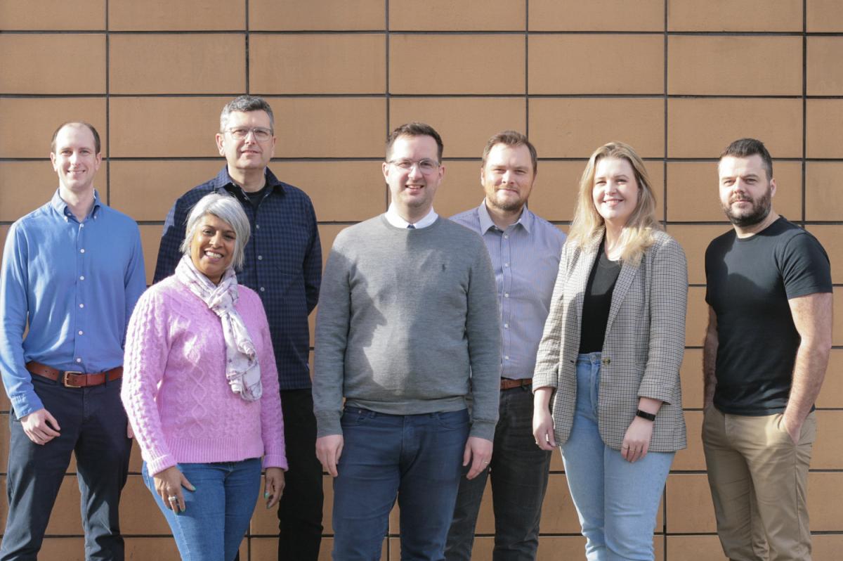
POLYGON ((472 480, 461 477, 445 558, 469 561, 477 513, 491 477, 495 511, 494 561, 534 559, 539 547, 541 504, 552 452, 533 438, 533 393, 529 386, 501 391, 500 417, 489 468, 472 480))

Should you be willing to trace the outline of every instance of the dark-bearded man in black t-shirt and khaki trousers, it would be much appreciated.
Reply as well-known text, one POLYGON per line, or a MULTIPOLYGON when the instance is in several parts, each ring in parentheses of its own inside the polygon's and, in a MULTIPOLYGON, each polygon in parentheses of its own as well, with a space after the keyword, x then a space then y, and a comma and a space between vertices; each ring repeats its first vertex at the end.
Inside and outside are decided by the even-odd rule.
POLYGON ((829 258, 773 211, 763 143, 733 142, 718 170, 734 228, 706 250, 702 440, 717 533, 735 561, 806 561, 813 402, 831 348, 829 258))

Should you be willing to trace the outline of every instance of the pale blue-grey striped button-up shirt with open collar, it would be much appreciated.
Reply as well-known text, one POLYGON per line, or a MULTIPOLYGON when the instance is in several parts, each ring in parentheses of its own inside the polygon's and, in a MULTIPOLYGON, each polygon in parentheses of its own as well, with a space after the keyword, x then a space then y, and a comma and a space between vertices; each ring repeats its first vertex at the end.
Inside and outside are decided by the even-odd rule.
POLYGON ((491 256, 501 312, 502 378, 532 378, 565 235, 526 207, 518 222, 501 230, 485 200, 451 220, 483 236, 491 256))

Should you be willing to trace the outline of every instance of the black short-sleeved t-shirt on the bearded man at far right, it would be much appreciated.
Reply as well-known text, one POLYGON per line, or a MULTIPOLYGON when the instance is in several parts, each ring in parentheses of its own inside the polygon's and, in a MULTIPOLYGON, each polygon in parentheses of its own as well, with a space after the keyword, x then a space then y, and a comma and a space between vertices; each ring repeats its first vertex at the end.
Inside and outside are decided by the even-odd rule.
POLYGON ((723 413, 781 413, 790 396, 799 333, 787 300, 831 292, 819 241, 779 218, 749 238, 734 230, 706 250, 706 302, 717 314, 717 389, 723 413))

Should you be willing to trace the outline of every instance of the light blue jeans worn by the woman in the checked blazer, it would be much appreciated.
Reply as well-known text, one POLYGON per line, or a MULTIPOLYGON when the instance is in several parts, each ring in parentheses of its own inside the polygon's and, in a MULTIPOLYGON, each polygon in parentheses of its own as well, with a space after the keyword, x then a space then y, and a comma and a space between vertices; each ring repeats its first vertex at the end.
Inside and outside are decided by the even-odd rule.
POLYGON ((561 445, 588 561, 652 560, 652 532, 674 452, 647 452, 630 463, 598 430, 600 353, 577 357, 577 413, 561 445))

